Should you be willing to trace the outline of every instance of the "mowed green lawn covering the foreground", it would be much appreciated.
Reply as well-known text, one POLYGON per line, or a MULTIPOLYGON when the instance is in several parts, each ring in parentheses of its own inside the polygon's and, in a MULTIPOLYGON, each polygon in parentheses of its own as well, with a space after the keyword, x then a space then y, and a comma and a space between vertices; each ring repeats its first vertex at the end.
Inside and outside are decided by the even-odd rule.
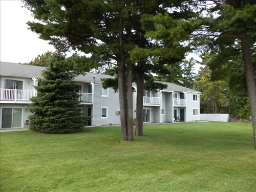
POLYGON ((196 122, 1 133, 4 191, 256 191, 252 125, 196 122))

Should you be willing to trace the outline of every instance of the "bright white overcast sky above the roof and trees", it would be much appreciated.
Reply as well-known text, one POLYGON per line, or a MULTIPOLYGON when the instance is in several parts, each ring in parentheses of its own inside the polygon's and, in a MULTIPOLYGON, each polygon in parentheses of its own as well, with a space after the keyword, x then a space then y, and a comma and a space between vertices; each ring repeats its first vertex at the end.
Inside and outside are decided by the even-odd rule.
MULTIPOLYGON (((38 34, 27 29, 26 22, 34 18, 28 9, 21 6, 20 0, 0 0, 0 61, 30 62, 38 55, 55 50, 46 40, 39 39, 38 34)), ((189 54, 189 58, 191 56, 200 59, 197 55, 189 54)), ((199 67, 195 66, 196 73, 199 67)))

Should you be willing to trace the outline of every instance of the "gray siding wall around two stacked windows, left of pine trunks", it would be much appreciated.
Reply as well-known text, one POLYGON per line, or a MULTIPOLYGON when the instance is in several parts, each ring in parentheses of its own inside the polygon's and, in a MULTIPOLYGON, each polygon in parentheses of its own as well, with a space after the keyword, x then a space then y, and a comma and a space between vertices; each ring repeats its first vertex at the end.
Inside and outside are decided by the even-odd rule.
POLYGON ((120 111, 119 94, 115 93, 112 88, 108 89, 108 97, 101 97, 101 107, 108 108, 108 118, 101 118, 101 125, 120 124, 120 115, 116 114, 117 111, 120 111))

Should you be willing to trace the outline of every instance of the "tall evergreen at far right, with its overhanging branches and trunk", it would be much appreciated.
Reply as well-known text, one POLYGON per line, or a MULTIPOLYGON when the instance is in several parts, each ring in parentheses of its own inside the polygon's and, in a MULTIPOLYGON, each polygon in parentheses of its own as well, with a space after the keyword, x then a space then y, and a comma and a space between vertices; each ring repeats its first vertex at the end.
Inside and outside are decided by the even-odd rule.
POLYGON ((241 55, 246 77, 252 117, 254 148, 256 150, 256 89, 255 64, 252 55, 256 41, 256 2, 251 0, 212 1, 215 6, 208 10, 207 18, 195 35, 199 35, 216 53, 209 63, 212 79, 225 78, 230 71, 228 62, 241 55))

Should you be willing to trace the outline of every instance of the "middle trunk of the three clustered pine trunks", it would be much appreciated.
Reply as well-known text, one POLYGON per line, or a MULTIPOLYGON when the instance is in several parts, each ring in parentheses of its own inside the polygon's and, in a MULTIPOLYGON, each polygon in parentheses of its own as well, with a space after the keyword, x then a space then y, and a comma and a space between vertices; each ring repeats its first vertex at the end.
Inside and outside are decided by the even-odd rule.
POLYGON ((127 63, 127 136, 133 141, 133 72, 132 63, 127 63))

